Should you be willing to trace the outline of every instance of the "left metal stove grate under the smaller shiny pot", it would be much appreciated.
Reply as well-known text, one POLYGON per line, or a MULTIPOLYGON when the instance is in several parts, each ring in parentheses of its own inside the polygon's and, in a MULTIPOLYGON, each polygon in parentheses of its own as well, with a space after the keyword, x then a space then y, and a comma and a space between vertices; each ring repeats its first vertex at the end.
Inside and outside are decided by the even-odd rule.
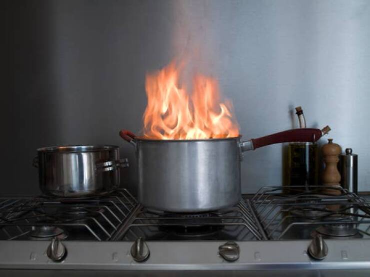
POLYGON ((110 240, 136 206, 126 189, 90 199, 2 197, 0 239, 31 239, 32 229, 56 226, 76 238, 110 240))

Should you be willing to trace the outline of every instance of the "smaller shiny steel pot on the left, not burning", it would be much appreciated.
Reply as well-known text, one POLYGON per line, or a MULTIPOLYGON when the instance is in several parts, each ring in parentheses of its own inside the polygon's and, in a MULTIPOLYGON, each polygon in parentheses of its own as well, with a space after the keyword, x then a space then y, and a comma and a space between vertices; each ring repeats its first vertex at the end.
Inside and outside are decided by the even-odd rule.
POLYGON ((57 197, 87 197, 109 193, 119 186, 118 146, 72 145, 37 149, 33 165, 38 167, 39 186, 44 194, 57 197))

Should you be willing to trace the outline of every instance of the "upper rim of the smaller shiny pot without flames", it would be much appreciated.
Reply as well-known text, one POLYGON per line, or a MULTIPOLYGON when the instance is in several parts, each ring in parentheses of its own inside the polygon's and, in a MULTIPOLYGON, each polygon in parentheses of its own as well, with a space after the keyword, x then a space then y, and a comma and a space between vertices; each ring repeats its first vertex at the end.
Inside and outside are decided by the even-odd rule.
POLYGON ((59 145, 59 146, 41 147, 37 149, 37 152, 80 153, 80 152, 109 151, 118 148, 119 147, 116 145, 103 145, 103 144, 59 145))

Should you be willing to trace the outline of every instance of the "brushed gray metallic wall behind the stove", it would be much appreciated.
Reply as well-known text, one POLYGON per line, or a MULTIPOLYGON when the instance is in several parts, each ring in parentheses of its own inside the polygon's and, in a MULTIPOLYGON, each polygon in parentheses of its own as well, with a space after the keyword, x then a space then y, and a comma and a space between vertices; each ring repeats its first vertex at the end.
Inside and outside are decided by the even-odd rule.
MULTIPOLYGON (((134 164, 118 130, 140 131, 145 73, 174 57, 218 78, 245 138, 296 128, 302 105, 309 127, 330 125, 359 154, 370 190, 370 1, 11 1, 2 13, 2 193, 38 193, 41 146, 117 144, 134 164)), ((281 184, 282 147, 245 155, 244 192, 281 184)), ((133 189, 134 166, 123 176, 133 189)))

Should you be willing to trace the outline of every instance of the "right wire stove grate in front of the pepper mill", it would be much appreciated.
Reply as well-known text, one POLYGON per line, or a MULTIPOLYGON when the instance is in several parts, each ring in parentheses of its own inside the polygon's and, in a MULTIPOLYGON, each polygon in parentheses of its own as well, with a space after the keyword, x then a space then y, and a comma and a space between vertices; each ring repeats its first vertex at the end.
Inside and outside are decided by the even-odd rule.
POLYGON ((370 237, 370 202, 341 187, 335 188, 338 195, 323 194, 323 188, 294 186, 293 195, 288 194, 288 187, 260 188, 250 202, 268 239, 310 238, 320 226, 333 230, 327 237, 337 237, 338 224, 357 229, 349 234, 370 237), (299 188, 301 192, 296 193, 299 188))

